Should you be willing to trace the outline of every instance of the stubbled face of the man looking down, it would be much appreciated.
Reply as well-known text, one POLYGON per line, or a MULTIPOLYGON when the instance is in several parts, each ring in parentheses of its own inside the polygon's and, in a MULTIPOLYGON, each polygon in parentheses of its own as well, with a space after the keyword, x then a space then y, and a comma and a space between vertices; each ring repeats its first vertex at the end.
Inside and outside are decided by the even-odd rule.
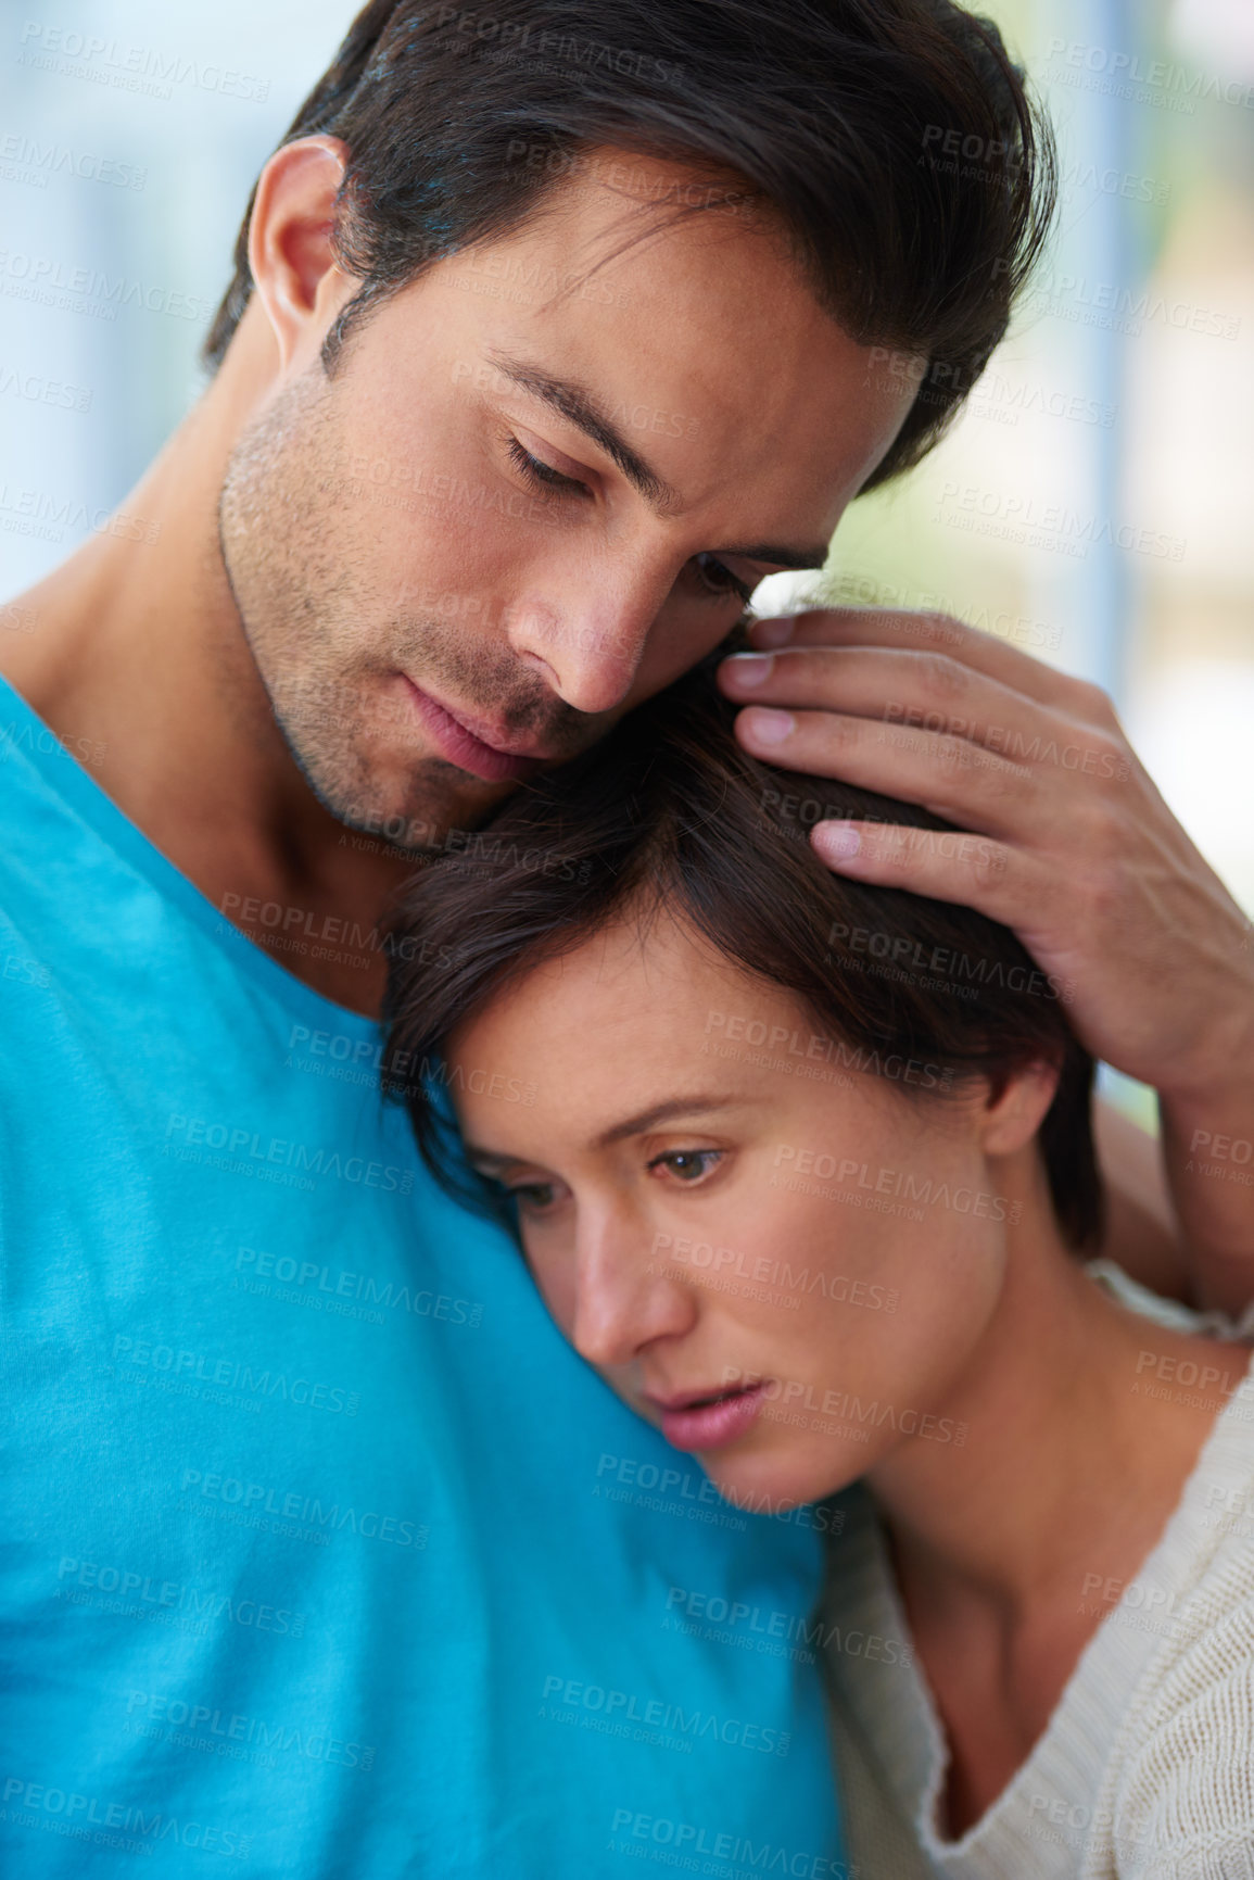
POLYGON ((603 152, 440 261, 241 434, 222 543, 346 823, 421 846, 568 760, 820 566, 910 402, 735 207, 603 152), (669 194, 667 194, 669 192, 669 194), (643 239, 641 239, 643 237, 643 239))

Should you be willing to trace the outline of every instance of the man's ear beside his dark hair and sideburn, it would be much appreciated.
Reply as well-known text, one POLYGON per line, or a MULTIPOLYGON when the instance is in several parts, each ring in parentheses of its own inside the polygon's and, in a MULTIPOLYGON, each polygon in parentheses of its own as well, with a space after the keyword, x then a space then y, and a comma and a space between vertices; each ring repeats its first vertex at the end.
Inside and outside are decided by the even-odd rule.
POLYGON ((331 248, 346 164, 348 145, 340 137, 297 137, 274 152, 258 179, 248 265, 282 372, 312 365, 327 327, 357 286, 331 248))

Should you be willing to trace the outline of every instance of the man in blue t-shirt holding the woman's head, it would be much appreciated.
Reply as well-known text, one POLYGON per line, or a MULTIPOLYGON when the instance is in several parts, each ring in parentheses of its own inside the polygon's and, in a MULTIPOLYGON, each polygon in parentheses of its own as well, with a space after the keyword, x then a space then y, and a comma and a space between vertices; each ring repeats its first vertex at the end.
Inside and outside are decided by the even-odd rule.
MULTIPOLYGON (((374 0, 267 164, 149 540, 6 650, 6 1872, 840 1872, 790 1643, 822 1510, 722 1508, 423 1184, 382 921, 921 455, 1038 165, 933 0, 374 0), (980 175, 919 162, 936 122, 980 175)), ((1250 1134, 1241 917, 1105 703, 949 622, 758 632, 756 748, 972 831, 833 865, 1017 921, 1169 1143, 1250 1134), (889 697, 964 728, 893 744, 889 697)), ((1241 1190, 1173 1173, 1243 1295, 1241 1190)))

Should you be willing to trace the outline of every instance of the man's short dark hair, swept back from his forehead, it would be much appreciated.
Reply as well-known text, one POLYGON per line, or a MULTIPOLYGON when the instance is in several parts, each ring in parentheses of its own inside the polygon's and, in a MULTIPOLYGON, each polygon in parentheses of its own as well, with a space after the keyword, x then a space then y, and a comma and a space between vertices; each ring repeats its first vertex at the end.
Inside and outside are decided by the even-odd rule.
MULTIPOLYGON (((320 132, 350 150, 335 241, 361 280, 327 370, 387 295, 521 227, 588 150, 624 149, 709 184, 660 211, 769 209, 840 327, 917 380, 867 489, 970 391, 1057 196, 996 26, 951 0, 370 0, 284 143, 320 132)), ((250 216, 211 367, 252 291, 250 216)))

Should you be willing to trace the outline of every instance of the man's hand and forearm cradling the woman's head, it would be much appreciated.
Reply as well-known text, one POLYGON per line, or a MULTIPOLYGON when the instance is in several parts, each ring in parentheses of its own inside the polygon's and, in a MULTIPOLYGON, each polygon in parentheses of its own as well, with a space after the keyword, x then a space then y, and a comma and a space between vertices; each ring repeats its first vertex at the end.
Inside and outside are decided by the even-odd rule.
POLYGON ((925 805, 963 835, 820 820, 823 861, 961 901, 1055 976, 1094 1057, 1152 1085, 1199 1295, 1254 1297, 1254 927, 1102 690, 944 615, 754 622, 720 667, 754 756, 925 805), (1222 1154, 1216 1154, 1216 1143, 1222 1154), (1211 1173, 1201 1173, 1209 1169, 1211 1173), (1248 1186, 1241 1177, 1248 1177, 1248 1186))

